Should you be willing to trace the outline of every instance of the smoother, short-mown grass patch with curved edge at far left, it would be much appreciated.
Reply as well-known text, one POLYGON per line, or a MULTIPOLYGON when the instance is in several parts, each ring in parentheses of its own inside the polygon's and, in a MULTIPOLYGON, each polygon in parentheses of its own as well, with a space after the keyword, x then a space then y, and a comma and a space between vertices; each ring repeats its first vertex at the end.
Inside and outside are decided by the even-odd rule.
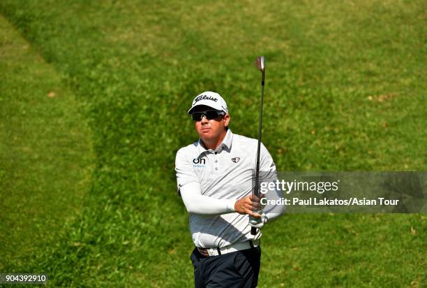
POLYGON ((1 15, 0 59, 0 271, 28 272, 81 210, 91 135, 61 76, 1 15))

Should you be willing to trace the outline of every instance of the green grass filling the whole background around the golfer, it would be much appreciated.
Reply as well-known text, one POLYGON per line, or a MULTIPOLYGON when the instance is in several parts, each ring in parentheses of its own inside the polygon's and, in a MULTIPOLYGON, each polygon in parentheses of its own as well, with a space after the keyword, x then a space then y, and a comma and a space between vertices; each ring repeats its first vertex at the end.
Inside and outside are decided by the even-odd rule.
MULTIPOLYGON (((279 171, 426 171, 426 10, 0 1, 0 272, 45 272, 52 287, 192 287, 174 176, 176 151, 197 140, 186 110, 217 91, 232 131, 255 138, 257 55, 279 171)), ((425 214, 285 215, 263 229, 259 286, 422 287, 426 227, 425 214)))

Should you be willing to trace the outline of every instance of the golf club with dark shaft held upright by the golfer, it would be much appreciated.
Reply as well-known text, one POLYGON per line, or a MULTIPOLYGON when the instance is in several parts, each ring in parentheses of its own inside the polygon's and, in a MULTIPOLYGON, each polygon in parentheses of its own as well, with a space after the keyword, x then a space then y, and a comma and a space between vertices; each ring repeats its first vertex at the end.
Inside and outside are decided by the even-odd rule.
MULTIPOLYGON (((265 79, 265 59, 264 56, 259 56, 255 59, 255 67, 262 73, 261 78, 261 103, 260 103, 260 122, 258 124, 258 147, 257 147, 257 168, 255 170, 255 187, 253 189, 253 194, 257 197, 260 196, 260 149, 261 149, 261 128, 262 128, 262 103, 264 102, 264 79, 265 79)), ((259 218, 250 217, 251 224, 258 224, 260 222, 259 218)), ((256 235, 257 229, 252 227, 250 229, 250 234, 256 235)))

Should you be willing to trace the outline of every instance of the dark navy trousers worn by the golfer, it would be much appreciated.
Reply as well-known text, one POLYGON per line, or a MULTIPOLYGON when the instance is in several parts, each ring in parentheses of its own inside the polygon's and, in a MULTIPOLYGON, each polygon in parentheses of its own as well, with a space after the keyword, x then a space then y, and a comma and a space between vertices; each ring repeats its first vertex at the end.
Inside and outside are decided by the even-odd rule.
POLYGON ((194 266, 196 288, 257 287, 261 247, 228 254, 204 257, 195 248, 190 256, 194 266))

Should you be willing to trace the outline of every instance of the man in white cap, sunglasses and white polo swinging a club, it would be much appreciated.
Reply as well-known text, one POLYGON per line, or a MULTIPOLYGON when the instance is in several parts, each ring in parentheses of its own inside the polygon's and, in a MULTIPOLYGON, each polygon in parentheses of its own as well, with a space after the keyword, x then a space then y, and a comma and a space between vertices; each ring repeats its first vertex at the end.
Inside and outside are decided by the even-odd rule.
MULTIPOLYGON (((262 233, 257 229, 251 235, 251 226, 261 228, 283 212, 279 208, 262 213, 260 199, 252 194, 257 140, 232 134, 220 94, 196 96, 188 114, 200 140, 177 152, 175 170, 196 246, 190 257, 195 287, 256 287, 262 233), (250 224, 249 216, 257 224, 250 224)), ((277 177, 264 145, 260 171, 277 177)))

